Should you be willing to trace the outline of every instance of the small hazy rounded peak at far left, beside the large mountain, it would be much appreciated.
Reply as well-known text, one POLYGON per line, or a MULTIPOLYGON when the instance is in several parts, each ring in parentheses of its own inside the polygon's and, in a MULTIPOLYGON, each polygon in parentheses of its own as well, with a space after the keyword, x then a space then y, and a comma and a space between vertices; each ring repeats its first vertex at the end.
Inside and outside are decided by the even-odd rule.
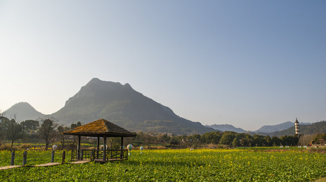
POLYGON ((11 108, 5 111, 6 117, 12 118, 16 115, 16 120, 25 121, 27 119, 37 119, 44 117, 45 115, 36 111, 30 104, 27 102, 20 102, 13 105, 11 108))

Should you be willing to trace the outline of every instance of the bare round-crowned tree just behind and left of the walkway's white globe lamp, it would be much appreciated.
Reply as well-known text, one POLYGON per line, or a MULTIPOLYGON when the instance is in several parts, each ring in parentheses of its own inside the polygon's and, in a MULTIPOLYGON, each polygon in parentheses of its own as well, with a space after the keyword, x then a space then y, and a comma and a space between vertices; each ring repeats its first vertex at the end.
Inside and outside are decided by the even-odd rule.
POLYGON ((57 124, 54 123, 52 120, 53 120, 53 118, 41 119, 38 131, 37 131, 40 138, 44 139, 44 141, 45 141, 45 150, 48 150, 49 143, 57 131, 57 128, 56 128, 57 124))

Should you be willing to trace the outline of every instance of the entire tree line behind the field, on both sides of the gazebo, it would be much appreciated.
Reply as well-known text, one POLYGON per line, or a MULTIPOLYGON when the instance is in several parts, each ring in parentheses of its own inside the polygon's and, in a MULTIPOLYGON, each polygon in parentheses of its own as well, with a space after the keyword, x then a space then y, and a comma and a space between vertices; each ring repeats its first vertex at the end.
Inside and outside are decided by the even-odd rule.
MULTIPOLYGON (((55 118, 46 118, 39 120, 25 120, 17 122, 15 117, 9 119, 0 116, 0 144, 10 143, 10 148, 19 140, 24 143, 32 141, 42 141, 45 143, 47 150, 50 142, 60 143, 61 149, 73 148, 77 143, 76 136, 63 135, 62 132, 80 126, 81 123, 77 122, 71 124, 70 127, 58 125, 55 118)), ((271 147, 271 146, 296 146, 299 139, 304 141, 305 137, 302 135, 284 135, 278 138, 277 136, 264 136, 259 134, 250 135, 248 133, 237 133, 234 131, 213 131, 204 134, 193 135, 168 135, 167 133, 154 133, 154 132, 137 132, 136 137, 126 138, 125 143, 130 143, 135 146, 170 146, 171 142, 177 142, 179 147, 204 147, 208 145, 218 145, 219 147, 271 147)), ((311 138, 311 137, 310 137, 311 138)), ((307 138, 304 143, 307 143, 307 138)), ((326 134, 314 136, 314 140, 319 138, 326 138, 326 134)), ((95 143, 96 139, 85 138, 83 142, 95 143)), ((119 138, 108 138, 108 147, 110 149, 117 149, 120 146, 119 138)), ((308 144, 305 144, 308 145, 308 144)))

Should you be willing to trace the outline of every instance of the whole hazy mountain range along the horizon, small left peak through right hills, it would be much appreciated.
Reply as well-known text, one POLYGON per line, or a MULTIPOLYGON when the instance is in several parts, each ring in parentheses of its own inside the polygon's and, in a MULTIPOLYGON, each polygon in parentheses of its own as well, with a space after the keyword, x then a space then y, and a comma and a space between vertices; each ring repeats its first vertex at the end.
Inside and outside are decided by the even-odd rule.
MULTIPOLYGON (((263 135, 293 134, 294 122, 262 126, 256 131, 246 131, 230 124, 203 126, 177 116, 166 107, 136 92, 128 83, 91 79, 77 94, 69 98, 59 111, 44 115, 30 104, 21 102, 6 111, 6 116, 16 115, 18 121, 55 117, 60 124, 69 126, 80 121, 82 124, 104 118, 130 131, 168 132, 174 134, 195 134, 210 131, 235 131, 263 135)), ((311 123, 300 123, 303 125, 311 123)), ((306 132, 303 130, 303 132, 306 132)), ((308 131, 307 131, 308 132, 308 131)))

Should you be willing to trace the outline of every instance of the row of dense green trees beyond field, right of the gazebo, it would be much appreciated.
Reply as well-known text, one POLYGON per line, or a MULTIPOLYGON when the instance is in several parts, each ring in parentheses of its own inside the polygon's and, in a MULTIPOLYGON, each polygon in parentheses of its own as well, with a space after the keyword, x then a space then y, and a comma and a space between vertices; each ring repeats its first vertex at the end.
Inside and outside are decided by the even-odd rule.
POLYGON ((295 146, 299 142, 299 135, 263 136, 259 134, 250 135, 248 133, 237 133, 234 131, 213 131, 204 134, 179 135, 144 133, 138 132, 135 138, 135 144, 165 145, 170 142, 177 142, 183 147, 202 147, 208 144, 228 146, 228 147, 271 147, 271 146, 295 146))

